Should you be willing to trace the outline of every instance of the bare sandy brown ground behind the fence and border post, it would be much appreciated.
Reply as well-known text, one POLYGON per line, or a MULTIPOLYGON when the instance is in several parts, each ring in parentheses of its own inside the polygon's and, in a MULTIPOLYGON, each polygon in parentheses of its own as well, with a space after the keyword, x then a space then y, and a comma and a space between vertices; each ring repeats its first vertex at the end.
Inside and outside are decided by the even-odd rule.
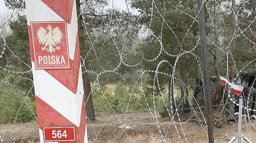
MULTIPOLYGON (((140 113, 140 114, 131 114, 126 118, 124 115, 118 115, 119 119, 116 116, 106 117, 97 117, 96 120, 87 121, 87 133, 88 133, 88 142, 94 143, 95 141, 95 132, 98 133, 99 129, 103 126, 106 120, 106 124, 103 126, 101 132, 98 134, 98 141, 102 143, 128 143, 126 137, 124 136, 124 130, 119 128, 119 125, 122 125, 127 121, 129 125, 134 125, 132 129, 127 130, 128 140, 130 143, 162 143, 161 137, 158 131, 156 124, 153 121, 151 114, 149 113, 140 113), (93 126, 93 128, 92 128, 93 126)), ((168 118, 161 118, 159 116, 159 121, 165 128, 165 132, 169 127, 170 120, 168 118)), ((182 122, 182 127, 184 129, 187 142, 188 143, 207 143, 207 136, 203 131, 199 123, 189 123, 182 122)), ((256 126, 256 123, 252 123, 256 126)), ((252 142, 256 142, 256 130, 253 129, 251 124, 251 137, 252 142)), ((181 127, 179 123, 177 124, 178 131, 180 132, 181 138, 184 142, 185 138, 183 136, 181 127)), ((247 124, 249 125, 249 124, 247 124)), ((243 124, 242 135, 248 136, 248 130, 246 123, 243 124)), ((39 143, 39 133, 37 123, 24 123, 17 124, 14 126, 12 131, 12 125, 0 125, 0 135, 3 137, 5 143, 10 143, 10 137, 12 134, 12 143, 39 143)), ((221 128, 214 128, 214 138, 216 143, 227 143, 233 136, 237 135, 237 124, 232 125, 226 124, 221 128)), ((167 143, 179 143, 178 134, 174 128, 173 123, 167 133, 166 138, 167 143)), ((235 141, 237 142, 237 141, 235 141)), ((242 143, 245 143, 242 141, 242 143)))

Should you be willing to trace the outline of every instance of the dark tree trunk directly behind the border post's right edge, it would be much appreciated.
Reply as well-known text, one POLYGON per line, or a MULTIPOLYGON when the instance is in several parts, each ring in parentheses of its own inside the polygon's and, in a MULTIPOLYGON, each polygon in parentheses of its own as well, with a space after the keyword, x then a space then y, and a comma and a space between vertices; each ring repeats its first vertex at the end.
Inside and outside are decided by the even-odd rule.
MULTIPOLYGON (((80 15, 80 0, 76 0, 77 4, 77 16, 80 15)), ((84 28, 82 27, 82 18, 81 16, 78 18, 78 32, 82 31, 84 28)), ((85 61, 85 64, 87 65, 87 60, 85 61)), ((90 120, 95 120, 95 113, 94 113, 94 108, 93 108, 93 100, 92 100, 92 94, 91 92, 91 83, 90 80, 87 77, 83 77, 83 82, 84 82, 84 92, 85 92, 85 109, 86 109, 86 115, 87 118, 90 120)))

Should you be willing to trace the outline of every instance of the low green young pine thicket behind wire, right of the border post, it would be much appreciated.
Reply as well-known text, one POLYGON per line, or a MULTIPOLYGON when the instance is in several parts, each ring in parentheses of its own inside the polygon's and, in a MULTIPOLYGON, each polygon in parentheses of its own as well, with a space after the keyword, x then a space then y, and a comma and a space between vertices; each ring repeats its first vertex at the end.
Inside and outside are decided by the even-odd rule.
MULTIPOLYGON (((147 99, 149 107, 151 108, 151 111, 154 111, 153 91, 150 88, 144 87, 144 97, 142 90, 140 89, 139 86, 136 86, 134 88, 133 93, 131 95, 132 89, 133 87, 128 88, 123 82, 119 81, 116 83, 114 91, 112 92, 112 90, 108 88, 106 84, 102 84, 103 93, 107 101, 111 105, 112 109, 114 111, 116 110, 116 113, 126 113, 127 106, 128 113, 148 112, 149 110, 145 101, 145 97, 147 99)), ((167 95, 168 94, 166 92, 163 92, 165 102, 168 104, 167 95)), ((92 96, 96 115, 101 115, 102 113, 113 113, 99 88, 95 87, 93 89, 92 96)), ((164 104, 161 96, 159 95, 155 95, 155 106, 157 111, 162 111, 162 107, 164 106, 164 104)))

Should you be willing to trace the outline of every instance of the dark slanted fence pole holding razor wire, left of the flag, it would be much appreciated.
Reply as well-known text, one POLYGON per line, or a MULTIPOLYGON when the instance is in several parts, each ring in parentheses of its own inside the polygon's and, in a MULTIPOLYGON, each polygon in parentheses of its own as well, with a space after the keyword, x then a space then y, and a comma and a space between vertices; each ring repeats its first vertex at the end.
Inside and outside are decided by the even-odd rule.
POLYGON ((208 65, 208 55, 206 47, 206 32, 205 32, 205 21, 204 21, 204 8, 202 6, 203 0, 197 0, 198 6, 198 19, 199 19, 199 31, 200 31, 200 46, 202 53, 202 63, 203 63, 203 92, 206 105, 206 119, 207 119, 207 129, 208 129, 208 139, 209 143, 214 143, 213 137, 213 124, 212 124, 212 111, 211 111, 211 93, 210 93, 210 79, 209 79, 209 65, 208 65), (201 8, 202 6, 202 8, 201 8), (201 11, 200 11, 201 8, 201 11))

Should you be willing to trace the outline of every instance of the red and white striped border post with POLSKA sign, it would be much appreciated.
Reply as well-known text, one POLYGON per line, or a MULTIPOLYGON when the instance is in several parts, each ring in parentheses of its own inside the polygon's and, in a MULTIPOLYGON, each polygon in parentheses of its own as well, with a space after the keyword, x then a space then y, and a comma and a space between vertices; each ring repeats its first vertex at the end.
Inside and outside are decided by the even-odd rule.
MULTIPOLYGON (((40 142, 43 143, 49 141, 45 138, 54 138, 54 140, 52 140, 54 142, 73 141, 77 143, 87 143, 76 1, 25 0, 25 4, 40 142), (51 23, 55 23, 56 27, 58 22, 64 22, 65 28, 59 28, 62 32, 62 41, 61 43, 56 42, 55 49, 60 45, 62 47, 60 50, 56 49, 55 52, 52 51, 47 53, 46 50, 41 50, 41 47, 44 47, 43 44, 45 43, 41 43, 41 47, 36 46, 36 44, 40 44, 38 43, 40 38, 37 37, 37 34, 35 35, 38 30, 38 28, 36 28, 38 25, 35 26, 35 29, 31 28, 31 26, 33 23, 45 23, 47 26, 42 24, 42 27, 47 30, 47 28, 52 26, 51 23), (45 68, 36 68, 36 63, 38 62, 38 57, 36 55, 38 54, 38 51, 41 52, 39 52, 39 54, 48 54, 48 56, 46 55, 44 57, 45 61, 43 61, 43 58, 40 59, 39 57, 39 60, 41 60, 42 63, 48 63, 48 65, 45 64, 45 68), (62 57, 57 57, 57 54, 61 55, 65 52, 68 55, 64 54, 63 59, 62 57), (56 54, 56 57, 54 57, 54 54, 56 54), (51 57, 51 55, 54 56, 51 57), (46 59, 47 57, 49 59, 46 59), (50 61, 50 57, 51 60, 54 60, 50 61), (62 68, 61 60, 63 60, 63 63, 69 64, 63 64, 64 68, 62 68), (56 66, 49 64, 56 64, 56 66), (49 133, 49 130, 51 131, 51 136, 45 133, 46 131, 49 133), (73 133, 72 137, 70 137, 68 133, 70 133, 70 135, 73 133), (48 137, 45 137, 45 135, 48 137), (65 140, 64 138, 68 139, 65 140)), ((54 29, 54 25, 52 29, 54 29)), ((51 46, 53 47, 53 45, 51 46)), ((47 47, 49 47, 49 45, 47 47)))

